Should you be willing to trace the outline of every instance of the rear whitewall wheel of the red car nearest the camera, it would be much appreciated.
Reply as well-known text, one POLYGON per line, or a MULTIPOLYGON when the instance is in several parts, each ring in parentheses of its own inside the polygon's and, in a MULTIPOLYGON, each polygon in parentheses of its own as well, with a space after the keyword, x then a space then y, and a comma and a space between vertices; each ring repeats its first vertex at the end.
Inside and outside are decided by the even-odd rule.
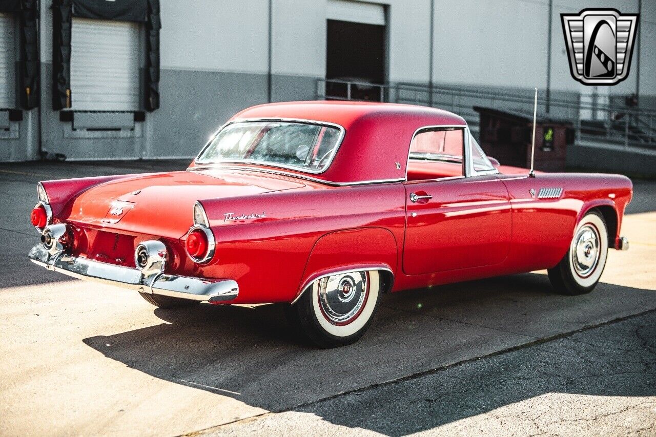
POLYGON ((380 276, 377 270, 336 274, 310 285, 287 318, 300 333, 322 348, 358 341, 378 308, 380 276))

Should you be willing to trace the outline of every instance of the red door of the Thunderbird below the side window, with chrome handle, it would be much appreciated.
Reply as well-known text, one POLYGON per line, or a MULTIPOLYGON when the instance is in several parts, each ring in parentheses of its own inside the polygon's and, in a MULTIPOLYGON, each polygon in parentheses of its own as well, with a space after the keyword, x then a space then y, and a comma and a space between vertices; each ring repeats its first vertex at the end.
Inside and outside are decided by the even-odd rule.
POLYGON ((408 182, 405 191, 405 274, 501 264, 508 256, 510 202, 496 177, 408 182), (413 203, 411 193, 433 198, 413 203))

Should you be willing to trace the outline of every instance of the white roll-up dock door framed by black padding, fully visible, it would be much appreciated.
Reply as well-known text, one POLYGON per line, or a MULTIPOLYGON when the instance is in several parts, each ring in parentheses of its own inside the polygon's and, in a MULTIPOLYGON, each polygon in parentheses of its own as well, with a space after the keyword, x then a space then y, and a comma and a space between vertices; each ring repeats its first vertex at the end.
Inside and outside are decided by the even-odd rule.
POLYGON ((73 18, 72 109, 139 110, 139 25, 73 18))

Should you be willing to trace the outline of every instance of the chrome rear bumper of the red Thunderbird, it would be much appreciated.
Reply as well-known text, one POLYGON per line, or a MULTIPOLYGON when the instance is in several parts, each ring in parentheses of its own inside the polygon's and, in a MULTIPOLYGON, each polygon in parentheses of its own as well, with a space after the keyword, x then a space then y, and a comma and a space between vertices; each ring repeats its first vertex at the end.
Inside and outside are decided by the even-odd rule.
POLYGON ((205 280, 164 273, 145 276, 136 268, 73 257, 61 251, 50 253, 40 243, 32 247, 28 257, 35 264, 53 272, 60 272, 81 280, 129 288, 140 293, 209 302, 232 301, 239 295, 239 287, 233 280, 205 280))

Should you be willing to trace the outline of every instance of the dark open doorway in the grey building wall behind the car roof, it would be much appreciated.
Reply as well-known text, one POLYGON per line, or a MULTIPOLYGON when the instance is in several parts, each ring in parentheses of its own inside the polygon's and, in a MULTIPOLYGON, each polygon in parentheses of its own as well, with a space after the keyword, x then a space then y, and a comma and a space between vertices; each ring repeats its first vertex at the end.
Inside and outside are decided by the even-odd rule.
POLYGON ((380 87, 361 84, 385 81, 385 26, 328 20, 326 80, 329 100, 380 101, 380 87))

